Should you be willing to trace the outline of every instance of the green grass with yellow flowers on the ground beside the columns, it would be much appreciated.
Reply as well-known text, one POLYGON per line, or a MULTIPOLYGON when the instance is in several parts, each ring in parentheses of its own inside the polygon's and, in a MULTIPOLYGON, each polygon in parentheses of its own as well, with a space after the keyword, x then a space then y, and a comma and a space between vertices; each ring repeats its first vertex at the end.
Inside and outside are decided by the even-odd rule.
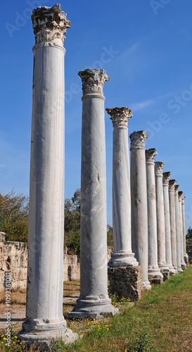
MULTIPOLYGON (((70 288, 69 295, 74 291, 70 288)), ((98 321, 68 321, 70 329, 83 334, 82 339, 70 346, 52 341, 50 351, 192 351, 192 267, 143 293, 130 309, 129 301, 112 298, 120 314, 98 321)), ((18 345, 6 350, 3 339, 1 334, 0 351, 23 351, 18 345)))

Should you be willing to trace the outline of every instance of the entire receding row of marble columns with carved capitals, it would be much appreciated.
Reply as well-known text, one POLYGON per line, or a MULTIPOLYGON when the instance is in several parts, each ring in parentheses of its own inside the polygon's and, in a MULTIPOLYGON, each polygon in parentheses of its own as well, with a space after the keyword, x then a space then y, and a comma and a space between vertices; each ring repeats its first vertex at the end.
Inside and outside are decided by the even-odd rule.
MULTIPOLYGON (((65 56, 63 40, 66 29, 70 27, 70 21, 66 13, 60 10, 60 5, 56 4, 52 8, 42 6, 34 9, 32 22, 36 44, 27 312, 23 331, 18 333, 18 337, 21 341, 34 341, 36 344, 48 344, 50 338, 62 337, 69 343, 77 339, 77 334, 67 329, 62 311, 65 56)), ((106 314, 117 313, 117 308, 111 304, 108 296, 107 272, 103 84, 110 77, 106 75, 105 70, 92 68, 80 71, 79 76, 82 79, 83 90, 80 296, 77 306, 68 317, 100 318, 106 314)), ((130 177, 127 126, 132 111, 125 107, 108 108, 107 111, 114 127, 114 253, 110 260, 110 268, 117 270, 135 268, 131 270, 133 276, 136 272, 141 274, 139 268, 142 268, 143 288, 150 289, 148 272, 150 275, 162 277, 162 271, 167 268, 172 272, 173 266, 181 270, 184 260, 181 256, 184 256, 185 251, 181 249, 181 246, 184 249, 184 240, 181 239, 181 226, 184 231, 184 212, 182 218, 180 200, 177 201, 178 190, 175 199, 169 196, 169 207, 167 189, 163 197, 163 163, 154 163, 155 149, 146 151, 145 140, 148 134, 145 131, 130 135, 130 177), (167 212, 168 208, 171 227, 165 230, 165 223, 168 227, 169 218, 164 212, 167 212), (173 217, 174 211, 176 214, 173 217)), ((128 282, 130 278, 127 277, 126 280, 128 282)))

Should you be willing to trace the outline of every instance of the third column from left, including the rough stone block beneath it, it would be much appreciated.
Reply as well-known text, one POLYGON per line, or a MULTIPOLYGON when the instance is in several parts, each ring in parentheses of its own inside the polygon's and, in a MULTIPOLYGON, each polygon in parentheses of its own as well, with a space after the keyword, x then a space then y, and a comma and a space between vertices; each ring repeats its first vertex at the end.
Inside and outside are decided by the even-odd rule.
POLYGON ((138 301, 142 269, 132 253, 131 189, 129 172, 129 108, 106 108, 113 122, 113 247, 108 269, 109 293, 138 301), (134 267, 134 268, 133 268, 134 267))

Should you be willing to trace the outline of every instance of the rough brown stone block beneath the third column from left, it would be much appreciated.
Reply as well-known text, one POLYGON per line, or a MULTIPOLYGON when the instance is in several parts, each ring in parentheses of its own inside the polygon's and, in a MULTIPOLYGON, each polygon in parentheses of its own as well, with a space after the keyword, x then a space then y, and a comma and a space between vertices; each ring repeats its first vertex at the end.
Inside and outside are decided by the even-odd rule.
POLYGON ((115 294, 119 298, 130 298, 133 302, 139 301, 141 298, 142 275, 140 265, 108 268, 109 294, 115 294))

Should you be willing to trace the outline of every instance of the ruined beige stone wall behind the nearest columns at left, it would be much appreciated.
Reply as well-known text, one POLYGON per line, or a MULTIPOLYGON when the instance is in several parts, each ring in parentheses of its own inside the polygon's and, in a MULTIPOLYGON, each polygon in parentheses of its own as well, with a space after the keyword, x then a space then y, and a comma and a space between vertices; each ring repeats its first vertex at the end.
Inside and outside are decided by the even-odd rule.
MULTIPOLYGON (((24 242, 5 241, 4 233, 0 232, 0 291, 5 289, 6 272, 11 272, 11 288, 27 287, 27 244, 24 242)), ((63 254, 63 280, 76 280, 80 277, 80 264, 77 256, 63 254)))

